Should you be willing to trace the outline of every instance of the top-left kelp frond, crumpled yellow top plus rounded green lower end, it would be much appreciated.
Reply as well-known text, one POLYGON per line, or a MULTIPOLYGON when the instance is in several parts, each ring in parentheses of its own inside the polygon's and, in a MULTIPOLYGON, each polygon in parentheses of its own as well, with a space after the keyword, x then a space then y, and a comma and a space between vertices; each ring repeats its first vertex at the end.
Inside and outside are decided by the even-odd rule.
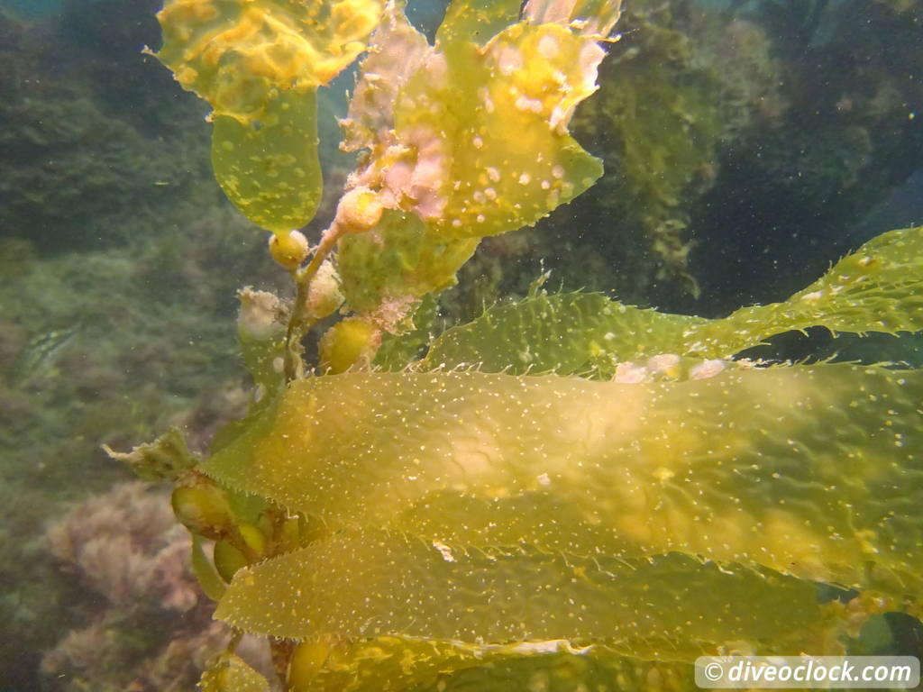
POLYGON ((157 57, 213 109, 211 163, 247 219, 276 233, 320 200, 315 95, 356 55, 381 0, 168 0, 157 57))

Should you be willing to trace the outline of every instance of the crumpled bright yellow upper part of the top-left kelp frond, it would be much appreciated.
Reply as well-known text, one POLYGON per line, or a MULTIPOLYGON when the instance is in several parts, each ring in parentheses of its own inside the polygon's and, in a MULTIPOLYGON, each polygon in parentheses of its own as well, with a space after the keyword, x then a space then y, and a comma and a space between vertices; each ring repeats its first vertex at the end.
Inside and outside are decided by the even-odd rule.
POLYGON ((157 57, 215 115, 264 120, 280 90, 327 84, 366 49, 381 0, 167 0, 157 57))

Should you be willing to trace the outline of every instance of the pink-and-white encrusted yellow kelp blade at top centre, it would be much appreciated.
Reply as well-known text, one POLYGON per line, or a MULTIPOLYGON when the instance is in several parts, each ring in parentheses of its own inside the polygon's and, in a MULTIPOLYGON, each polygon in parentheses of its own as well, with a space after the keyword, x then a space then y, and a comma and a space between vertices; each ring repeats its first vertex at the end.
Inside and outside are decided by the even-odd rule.
POLYGON ((513 8, 454 3, 433 48, 389 6, 343 121, 349 148, 370 149, 351 184, 442 240, 530 225, 602 173, 567 129, 596 89, 598 37, 556 23, 506 27, 513 8))

